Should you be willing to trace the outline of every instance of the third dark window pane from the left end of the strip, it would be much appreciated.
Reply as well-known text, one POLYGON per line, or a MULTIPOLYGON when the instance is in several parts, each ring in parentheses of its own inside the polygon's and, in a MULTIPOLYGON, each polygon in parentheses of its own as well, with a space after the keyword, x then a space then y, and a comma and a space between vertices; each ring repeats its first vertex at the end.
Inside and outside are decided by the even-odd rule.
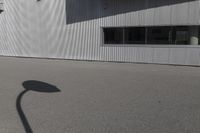
POLYGON ((171 44, 172 28, 171 27, 148 27, 147 28, 148 44, 171 44))

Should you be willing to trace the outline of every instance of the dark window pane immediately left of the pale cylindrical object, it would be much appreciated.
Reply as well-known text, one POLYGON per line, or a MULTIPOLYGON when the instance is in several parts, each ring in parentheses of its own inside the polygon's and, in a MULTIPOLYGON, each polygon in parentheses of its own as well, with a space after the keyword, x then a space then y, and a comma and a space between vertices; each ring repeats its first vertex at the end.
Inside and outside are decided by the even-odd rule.
POLYGON ((174 44, 189 44, 189 28, 179 26, 173 28, 173 43, 174 44))

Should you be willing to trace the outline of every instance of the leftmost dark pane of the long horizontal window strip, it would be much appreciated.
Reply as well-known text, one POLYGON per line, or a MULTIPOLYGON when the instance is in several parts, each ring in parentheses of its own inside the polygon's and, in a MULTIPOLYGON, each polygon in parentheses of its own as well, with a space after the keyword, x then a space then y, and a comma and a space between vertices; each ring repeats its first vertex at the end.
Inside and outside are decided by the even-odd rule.
POLYGON ((123 44, 123 28, 104 28, 105 44, 123 44))

